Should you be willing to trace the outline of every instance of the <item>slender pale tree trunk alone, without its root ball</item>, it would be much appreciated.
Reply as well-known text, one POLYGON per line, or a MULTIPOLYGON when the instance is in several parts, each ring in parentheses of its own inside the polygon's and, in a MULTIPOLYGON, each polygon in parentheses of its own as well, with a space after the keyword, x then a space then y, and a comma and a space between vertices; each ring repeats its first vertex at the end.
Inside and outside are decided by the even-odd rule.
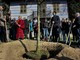
MULTIPOLYGON (((37 17, 38 17, 38 40, 36 51, 40 51, 40 18, 41 18, 41 4, 45 3, 45 0, 37 0, 37 17)), ((45 14, 44 14, 45 15, 45 14)))

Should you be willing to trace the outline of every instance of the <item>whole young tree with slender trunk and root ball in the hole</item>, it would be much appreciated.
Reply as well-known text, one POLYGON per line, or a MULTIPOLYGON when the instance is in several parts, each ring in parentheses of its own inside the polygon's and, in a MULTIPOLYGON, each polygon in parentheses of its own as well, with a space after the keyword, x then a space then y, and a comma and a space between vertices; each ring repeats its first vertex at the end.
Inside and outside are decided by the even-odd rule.
POLYGON ((31 57, 32 59, 44 59, 44 58, 48 58, 49 57, 49 52, 46 50, 42 50, 40 47, 40 12, 41 12, 41 4, 44 2, 45 0, 37 0, 37 17, 38 17, 38 40, 37 40, 37 47, 36 47, 36 51, 34 52, 27 52, 26 55, 31 57), (43 56, 45 56, 43 58, 43 56))

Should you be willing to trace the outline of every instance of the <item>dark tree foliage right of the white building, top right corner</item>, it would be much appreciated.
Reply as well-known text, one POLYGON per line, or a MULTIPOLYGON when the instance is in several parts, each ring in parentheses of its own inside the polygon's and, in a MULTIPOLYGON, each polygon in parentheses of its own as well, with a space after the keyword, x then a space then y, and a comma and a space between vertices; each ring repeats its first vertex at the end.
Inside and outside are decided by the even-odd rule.
POLYGON ((76 12, 80 12, 80 0, 67 0, 69 18, 72 20, 76 12))

